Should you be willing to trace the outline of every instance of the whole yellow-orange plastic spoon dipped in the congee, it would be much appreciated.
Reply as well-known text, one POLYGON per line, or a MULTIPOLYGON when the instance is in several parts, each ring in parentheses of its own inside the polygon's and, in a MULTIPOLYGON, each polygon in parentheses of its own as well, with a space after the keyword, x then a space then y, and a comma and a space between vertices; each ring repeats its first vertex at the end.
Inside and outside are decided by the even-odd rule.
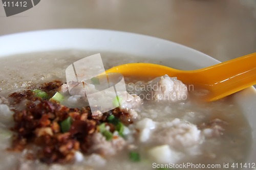
POLYGON ((106 70, 106 73, 110 72, 119 72, 124 77, 177 77, 186 85, 208 90, 206 100, 216 101, 256 84, 256 53, 197 70, 178 70, 158 64, 131 63, 106 70))

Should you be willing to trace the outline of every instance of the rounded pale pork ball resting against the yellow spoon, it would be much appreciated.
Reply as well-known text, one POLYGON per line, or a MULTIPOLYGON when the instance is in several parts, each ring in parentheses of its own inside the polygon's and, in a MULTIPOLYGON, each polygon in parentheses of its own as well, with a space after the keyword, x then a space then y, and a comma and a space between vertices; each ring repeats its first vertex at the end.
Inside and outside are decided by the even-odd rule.
POLYGON ((187 99, 187 87, 177 78, 168 75, 157 77, 147 82, 146 99, 156 101, 182 101, 187 99))

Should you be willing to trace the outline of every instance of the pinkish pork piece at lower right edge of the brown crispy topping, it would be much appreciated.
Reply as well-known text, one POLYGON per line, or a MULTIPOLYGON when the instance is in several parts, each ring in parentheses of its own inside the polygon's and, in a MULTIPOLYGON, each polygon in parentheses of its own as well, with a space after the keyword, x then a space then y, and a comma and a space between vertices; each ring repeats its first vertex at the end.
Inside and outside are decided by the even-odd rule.
POLYGON ((118 136, 114 136, 111 141, 107 141, 102 134, 94 133, 92 136, 92 144, 89 152, 97 153, 102 156, 111 156, 121 151, 125 147, 126 141, 118 136))

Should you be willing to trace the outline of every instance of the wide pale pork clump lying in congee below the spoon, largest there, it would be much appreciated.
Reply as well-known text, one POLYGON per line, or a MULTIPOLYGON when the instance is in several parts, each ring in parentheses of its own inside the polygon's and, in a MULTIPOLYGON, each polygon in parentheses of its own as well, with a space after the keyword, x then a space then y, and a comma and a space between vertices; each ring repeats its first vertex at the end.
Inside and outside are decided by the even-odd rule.
POLYGON ((168 144, 170 147, 191 147, 200 143, 201 131, 192 124, 175 118, 172 122, 157 123, 144 118, 136 124, 141 142, 168 144))

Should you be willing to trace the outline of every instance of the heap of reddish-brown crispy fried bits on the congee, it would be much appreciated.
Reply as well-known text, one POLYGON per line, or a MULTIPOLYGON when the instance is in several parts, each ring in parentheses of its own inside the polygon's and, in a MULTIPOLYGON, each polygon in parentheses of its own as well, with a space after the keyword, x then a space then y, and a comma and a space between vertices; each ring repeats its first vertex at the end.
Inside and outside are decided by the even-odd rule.
MULTIPOLYGON (((41 87, 45 91, 53 92, 60 82, 47 83, 41 87)), ((56 91, 54 91, 56 92, 56 91)), ((106 123, 110 131, 114 132, 115 126, 108 123, 108 116, 114 115, 125 124, 131 124, 129 113, 120 111, 118 108, 96 116, 92 115, 90 107, 82 109, 68 108, 57 102, 36 98, 31 90, 20 93, 12 93, 10 98, 14 103, 27 100, 23 110, 14 109, 13 119, 16 132, 12 140, 12 151, 22 151, 27 146, 34 144, 39 147, 38 153, 29 158, 39 159, 45 163, 68 163, 74 161, 76 151, 83 154, 91 154, 93 147, 93 134, 99 133, 98 125, 106 123), (62 132, 61 122, 71 117, 71 127, 62 132)))

